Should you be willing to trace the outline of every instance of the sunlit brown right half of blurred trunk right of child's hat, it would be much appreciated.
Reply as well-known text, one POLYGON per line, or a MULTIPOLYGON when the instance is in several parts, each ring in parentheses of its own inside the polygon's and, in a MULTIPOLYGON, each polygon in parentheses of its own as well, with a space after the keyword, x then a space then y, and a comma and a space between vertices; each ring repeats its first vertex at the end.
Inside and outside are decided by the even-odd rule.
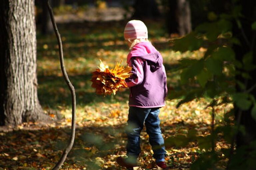
POLYGON ((191 12, 188 0, 177 0, 177 21, 180 36, 191 32, 191 12))

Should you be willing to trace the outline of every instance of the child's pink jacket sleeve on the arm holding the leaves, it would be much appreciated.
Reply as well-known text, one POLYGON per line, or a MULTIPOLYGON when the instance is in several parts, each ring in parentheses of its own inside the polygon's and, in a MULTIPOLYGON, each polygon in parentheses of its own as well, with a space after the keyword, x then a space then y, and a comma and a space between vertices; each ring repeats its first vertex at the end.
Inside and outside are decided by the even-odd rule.
POLYGON ((144 78, 143 71, 143 59, 140 57, 132 57, 128 63, 132 67, 132 75, 125 79, 125 82, 128 87, 133 87, 142 83, 144 78))

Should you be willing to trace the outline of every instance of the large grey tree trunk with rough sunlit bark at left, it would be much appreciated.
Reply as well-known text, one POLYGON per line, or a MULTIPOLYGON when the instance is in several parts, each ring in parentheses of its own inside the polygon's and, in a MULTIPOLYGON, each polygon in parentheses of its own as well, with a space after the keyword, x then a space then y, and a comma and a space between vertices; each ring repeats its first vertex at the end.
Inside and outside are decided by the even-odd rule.
POLYGON ((34 0, 3 0, 0 25, 1 124, 45 120, 37 97, 34 0))

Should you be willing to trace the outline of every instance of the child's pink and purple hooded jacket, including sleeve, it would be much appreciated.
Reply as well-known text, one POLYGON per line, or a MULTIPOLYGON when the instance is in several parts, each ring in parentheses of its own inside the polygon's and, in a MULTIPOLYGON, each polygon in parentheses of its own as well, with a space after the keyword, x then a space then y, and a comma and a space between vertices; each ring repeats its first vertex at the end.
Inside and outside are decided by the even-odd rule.
POLYGON ((165 106, 167 83, 160 52, 150 42, 140 42, 128 54, 127 63, 132 67, 132 75, 126 79, 130 88, 129 106, 165 106))

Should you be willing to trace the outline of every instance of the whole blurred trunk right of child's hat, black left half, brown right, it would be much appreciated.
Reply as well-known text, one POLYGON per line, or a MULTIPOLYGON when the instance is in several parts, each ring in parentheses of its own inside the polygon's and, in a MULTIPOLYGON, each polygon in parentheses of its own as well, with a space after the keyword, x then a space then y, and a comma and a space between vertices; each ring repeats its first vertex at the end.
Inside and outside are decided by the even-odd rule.
POLYGON ((188 0, 167 0, 166 25, 169 34, 178 33, 184 36, 191 32, 191 12, 188 0))

